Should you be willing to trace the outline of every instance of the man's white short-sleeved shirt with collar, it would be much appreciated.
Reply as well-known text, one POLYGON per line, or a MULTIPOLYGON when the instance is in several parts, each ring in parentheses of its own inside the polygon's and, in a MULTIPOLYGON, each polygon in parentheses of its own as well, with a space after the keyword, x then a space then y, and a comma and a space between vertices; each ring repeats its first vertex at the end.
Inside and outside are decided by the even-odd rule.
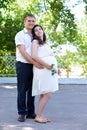
POLYGON ((31 40, 32 36, 29 34, 27 29, 23 29, 18 32, 15 36, 15 44, 16 44, 16 60, 22 63, 29 63, 20 53, 17 45, 24 45, 25 51, 31 56, 31 40))

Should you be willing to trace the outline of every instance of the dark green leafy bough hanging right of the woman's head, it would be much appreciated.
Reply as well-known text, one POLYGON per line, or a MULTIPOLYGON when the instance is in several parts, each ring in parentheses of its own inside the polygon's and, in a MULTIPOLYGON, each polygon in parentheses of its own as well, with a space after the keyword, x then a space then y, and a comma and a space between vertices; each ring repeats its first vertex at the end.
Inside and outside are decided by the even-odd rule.
POLYGON ((74 22, 74 15, 71 14, 70 10, 67 7, 65 7, 62 2, 55 0, 51 2, 50 5, 51 5, 52 16, 53 16, 53 19, 51 21, 53 24, 53 33, 51 33, 52 39, 54 40, 54 37, 56 39, 56 37, 61 36, 61 38, 59 37, 58 38, 59 40, 57 40, 57 42, 60 44, 61 44, 60 39, 63 39, 63 41, 65 42, 75 41, 76 40, 75 35, 77 33, 76 31, 77 26, 74 22), (62 25, 61 35, 59 34, 60 32, 56 31, 58 23, 60 22, 62 25))

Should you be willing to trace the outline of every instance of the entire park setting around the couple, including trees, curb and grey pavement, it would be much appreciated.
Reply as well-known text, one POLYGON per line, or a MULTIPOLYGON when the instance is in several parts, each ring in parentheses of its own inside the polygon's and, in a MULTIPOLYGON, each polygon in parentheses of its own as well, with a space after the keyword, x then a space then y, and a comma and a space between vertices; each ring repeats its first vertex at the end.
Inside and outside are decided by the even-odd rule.
POLYGON ((87 0, 0 0, 0 130, 87 129, 86 41, 87 0), (43 125, 17 121, 14 37, 26 13, 44 27, 62 71, 45 111, 52 122, 43 125))

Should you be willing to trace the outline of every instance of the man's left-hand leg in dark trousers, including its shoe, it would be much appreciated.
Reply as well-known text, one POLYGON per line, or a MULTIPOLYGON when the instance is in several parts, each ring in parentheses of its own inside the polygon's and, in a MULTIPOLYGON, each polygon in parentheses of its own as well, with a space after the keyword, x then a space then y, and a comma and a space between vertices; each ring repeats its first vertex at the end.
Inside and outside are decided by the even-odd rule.
POLYGON ((27 69, 26 64, 17 62, 17 108, 19 118, 18 120, 25 121, 26 115, 26 80, 27 80, 27 69))

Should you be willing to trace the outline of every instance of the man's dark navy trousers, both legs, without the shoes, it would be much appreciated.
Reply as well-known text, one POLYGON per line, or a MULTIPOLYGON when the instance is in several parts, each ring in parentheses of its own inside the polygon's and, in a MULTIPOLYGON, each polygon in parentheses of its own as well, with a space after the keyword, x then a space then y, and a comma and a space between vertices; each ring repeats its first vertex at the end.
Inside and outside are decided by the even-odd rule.
POLYGON ((18 114, 35 113, 34 96, 32 96, 33 65, 17 62, 17 108, 18 114))

